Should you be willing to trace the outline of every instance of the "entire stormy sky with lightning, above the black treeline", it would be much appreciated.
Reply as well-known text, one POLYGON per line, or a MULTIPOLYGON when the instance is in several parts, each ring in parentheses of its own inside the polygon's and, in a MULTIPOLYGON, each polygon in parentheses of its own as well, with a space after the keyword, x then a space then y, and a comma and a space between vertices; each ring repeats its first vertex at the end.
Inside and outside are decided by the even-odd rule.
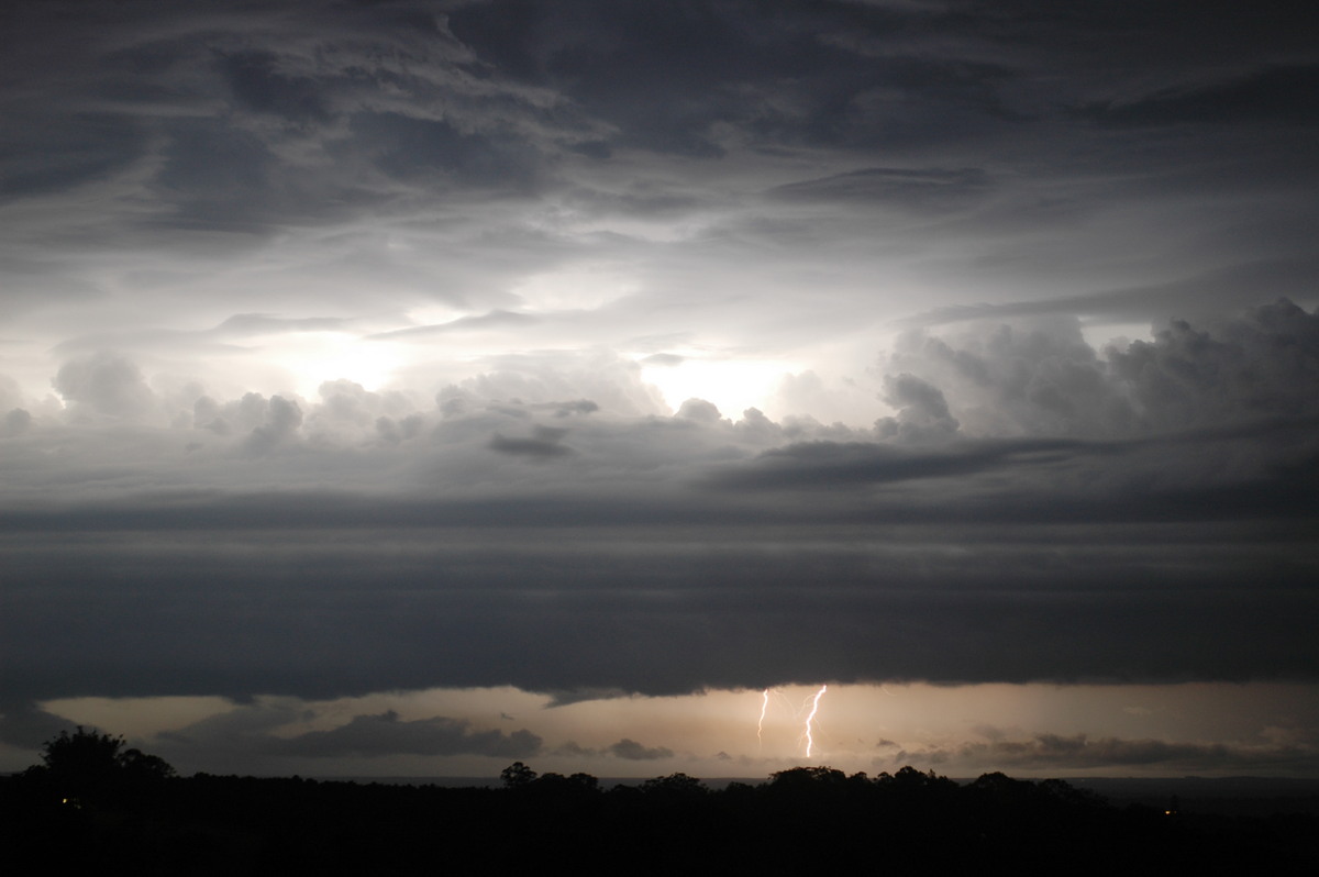
POLYGON ((11 5, 0 770, 1319 777, 1295 4, 11 5))

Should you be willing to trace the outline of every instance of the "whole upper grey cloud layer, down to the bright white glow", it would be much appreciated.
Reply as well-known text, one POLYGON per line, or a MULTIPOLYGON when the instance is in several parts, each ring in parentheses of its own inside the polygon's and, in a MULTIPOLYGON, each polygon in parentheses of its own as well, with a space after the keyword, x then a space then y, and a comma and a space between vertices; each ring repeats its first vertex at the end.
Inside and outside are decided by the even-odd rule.
MULTIPOLYGON (((1041 302, 1132 266, 1174 286, 1290 272, 1268 295, 1316 277, 1299 146, 1316 59, 1282 4, 1200 7, 1194 38, 1161 4, 144 1, 79 5, 74 29, 47 17, 57 5, 15 13, 3 53, 22 83, 4 95, 0 206, 22 310, 145 284, 342 319, 371 289, 377 317, 468 309, 447 330, 394 314, 371 331, 451 331, 529 320, 508 293, 521 273, 620 252, 644 278, 632 320, 671 323, 674 262, 714 255, 682 276, 691 301, 736 260, 757 298, 797 310, 797 332, 814 309, 787 276, 830 284, 853 323, 910 307, 864 276, 919 277, 943 306, 972 280, 1041 302), (1169 227, 1179 240, 1151 249, 1169 227), (261 282, 223 282, 233 255, 261 282), (1038 272, 1025 284, 1022 258, 1038 272), (322 285, 319 313, 281 282, 294 266, 322 285)), ((1174 315, 1175 289, 1148 280, 1124 317, 1174 315)), ((115 313, 96 330, 141 326, 140 311, 106 326, 115 313)), ((206 326, 173 306, 150 319, 206 326)))

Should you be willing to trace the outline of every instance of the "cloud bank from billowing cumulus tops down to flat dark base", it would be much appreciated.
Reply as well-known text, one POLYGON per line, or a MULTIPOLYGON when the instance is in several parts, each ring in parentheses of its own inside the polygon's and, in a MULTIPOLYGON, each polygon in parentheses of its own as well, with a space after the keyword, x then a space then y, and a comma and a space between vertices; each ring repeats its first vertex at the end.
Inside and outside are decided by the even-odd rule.
MULTIPOLYGON (((7 690, 1310 679, 1316 324, 1282 302, 1103 359, 1075 323, 919 332, 896 434, 493 378, 208 402, 123 451, 74 408, 9 439, 7 690)), ((120 384, 70 378, 131 419, 120 384)))

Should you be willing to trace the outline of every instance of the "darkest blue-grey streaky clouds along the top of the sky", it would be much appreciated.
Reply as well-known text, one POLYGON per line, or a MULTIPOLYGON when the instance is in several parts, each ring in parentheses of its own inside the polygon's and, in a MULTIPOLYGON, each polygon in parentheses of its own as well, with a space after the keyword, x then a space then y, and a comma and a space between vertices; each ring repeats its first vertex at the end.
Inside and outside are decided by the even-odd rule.
MULTIPOLYGON (((57 153, 12 178, 49 187, 103 175, 145 154, 146 132, 154 131, 171 141, 158 194, 174 193, 194 211, 257 216, 277 212, 281 202, 301 208, 294 204, 311 194, 299 187, 314 162, 293 158, 294 144, 309 156, 351 156, 348 167, 361 160, 390 177, 435 171, 459 185, 499 187, 533 185, 561 145, 596 156, 611 141, 724 154, 720 125, 766 146, 795 140, 905 149, 1025 121, 1012 102, 1031 109, 1041 98, 1080 104, 1105 73, 1096 65, 1115 47, 1120 58, 1109 63, 1129 71, 1117 82, 1163 78, 1165 91, 1187 91, 1177 79, 1184 69, 1213 70, 1216 59, 1186 50, 1229 37, 1246 69, 1242 84, 1200 84, 1182 96, 1158 96, 1155 87, 1154 98, 1129 96, 1122 106, 1149 107, 1146 116, 1169 121, 1187 116, 1182 104, 1212 104, 1219 92, 1227 95, 1220 103, 1248 112, 1302 106, 1290 95, 1303 92, 1314 67, 1269 66, 1257 36, 1270 25, 1268 12, 1199 12, 1200 38, 1169 42, 1161 33, 1179 17, 1100 4, 1062 15, 1049 4, 575 1, 550 11, 516 1, 369 9, 307 3, 280 16, 216 8, 195 22, 182 12, 162 17, 158 4, 121 4, 96 22, 102 38, 66 51, 65 70, 86 78, 74 84, 84 90, 84 104, 99 104, 98 116, 41 104, 38 96, 70 80, 41 75, 40 66, 26 92, 16 92, 29 112, 59 112, 73 135, 59 141, 74 152, 63 164, 57 153), (1062 67, 1070 78, 1041 75, 1062 62, 1070 62, 1062 67), (1074 92, 1035 94, 1047 87, 1074 92), (244 124, 220 128, 198 117, 218 104, 231 123, 244 124), (123 145, 94 136, 106 129, 123 132, 123 145), (276 166, 278 179, 270 175, 276 166)), ((29 51, 61 40, 40 16, 17 24, 15 45, 29 51)), ((1286 33, 1272 25, 1274 40, 1286 33)), ((1297 42, 1291 54, 1303 49, 1297 42)), ((336 189, 361 204, 379 195, 364 179, 342 179, 336 189)))

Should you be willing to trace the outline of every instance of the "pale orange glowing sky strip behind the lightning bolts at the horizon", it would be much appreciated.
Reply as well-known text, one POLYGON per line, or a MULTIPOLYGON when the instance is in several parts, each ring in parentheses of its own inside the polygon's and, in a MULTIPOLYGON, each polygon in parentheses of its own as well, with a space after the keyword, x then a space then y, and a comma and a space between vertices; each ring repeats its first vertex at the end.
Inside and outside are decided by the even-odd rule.
MULTIPOLYGON (((248 703, 218 696, 69 698, 37 707, 70 723, 123 733, 129 745, 160 754, 183 773, 496 775, 512 757, 481 752, 483 735, 525 729, 542 742, 521 760, 537 770, 565 774, 654 777, 681 770, 707 778, 754 778, 801 766, 806 760, 827 760, 828 766, 847 773, 893 771, 911 765, 952 777, 992 770, 1018 777, 1182 775, 1241 769, 1236 764, 1219 769, 1195 761, 1199 741, 1206 739, 1242 741, 1237 748, 1242 757, 1252 758, 1275 758, 1306 745, 1303 729, 1312 725, 1314 694, 1312 684, 1282 683, 888 683, 557 703, 545 694, 492 687, 383 691, 328 700, 264 695, 248 703), (826 692, 827 740, 820 723, 826 717, 826 692), (753 695, 758 695, 756 707, 747 703, 753 695), (752 710, 756 712, 749 716, 752 710), (360 716, 389 712, 400 724, 443 717, 467 729, 472 749, 448 754, 381 750, 334 758, 272 757, 260 752, 265 737, 278 737, 281 749, 291 750, 305 735, 334 732, 360 716), (1265 724, 1256 717, 1261 715, 1278 719, 1265 724), (747 733, 748 721, 756 724, 756 746, 747 733), (249 724, 264 731, 252 739, 252 753, 235 753, 227 742, 228 729, 249 724), (1060 752, 1041 742, 1051 739, 1105 745, 1060 752), (620 750, 623 740, 634 745, 620 750), (1130 761, 1097 757, 1105 750, 1138 752, 1154 742, 1162 745, 1159 741, 1184 744, 1190 761, 1155 760, 1133 769, 1130 761)), ((418 725, 421 729, 423 725, 418 725)), ((33 750, 0 746, 0 769, 22 770, 36 757, 33 750)), ((1268 766, 1261 761, 1246 769, 1268 766)))

